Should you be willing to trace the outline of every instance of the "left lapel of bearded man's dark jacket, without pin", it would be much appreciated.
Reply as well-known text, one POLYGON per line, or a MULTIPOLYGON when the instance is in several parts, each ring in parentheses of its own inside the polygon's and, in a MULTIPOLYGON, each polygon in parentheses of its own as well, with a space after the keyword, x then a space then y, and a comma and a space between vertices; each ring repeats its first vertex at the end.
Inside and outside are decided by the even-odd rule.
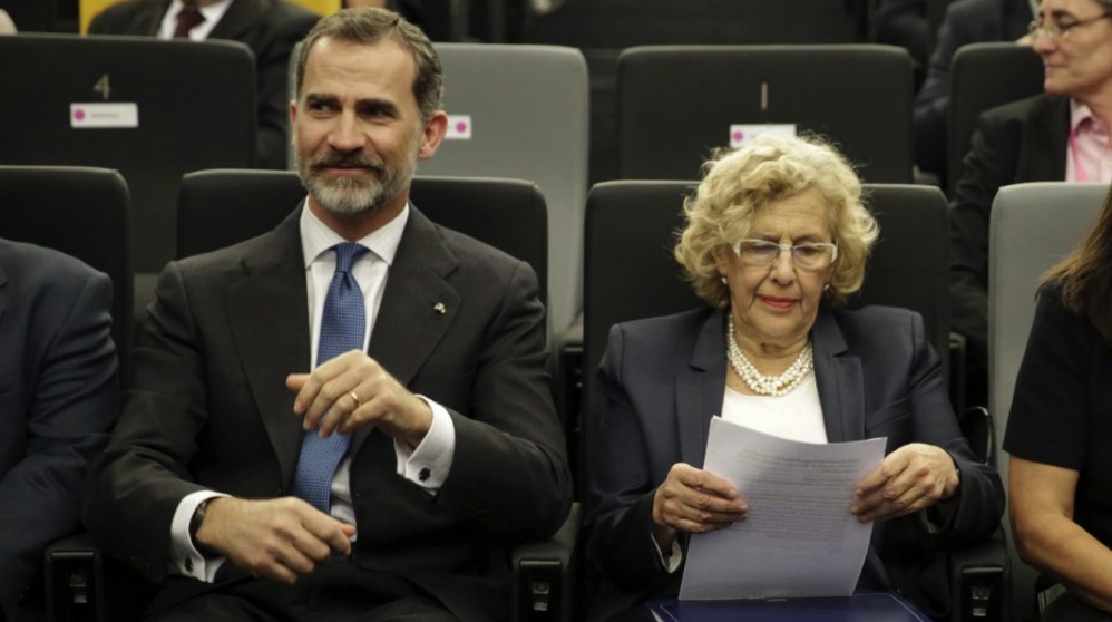
POLYGON ((259 242, 259 252, 242 259, 244 278, 225 297, 234 346, 286 485, 304 431, 293 415, 294 393, 286 389, 285 377, 309 371, 312 365, 300 214, 299 207, 259 242))

